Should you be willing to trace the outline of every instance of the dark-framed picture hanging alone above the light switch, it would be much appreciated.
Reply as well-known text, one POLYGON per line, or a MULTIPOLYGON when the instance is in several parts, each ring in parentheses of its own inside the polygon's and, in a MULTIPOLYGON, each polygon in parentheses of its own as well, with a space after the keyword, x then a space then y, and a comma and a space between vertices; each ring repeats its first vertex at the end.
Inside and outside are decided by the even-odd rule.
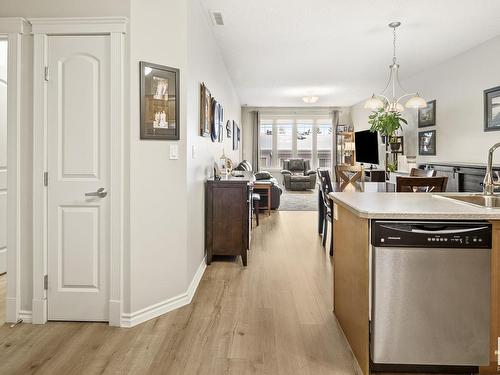
POLYGON ((141 61, 141 139, 178 140, 179 69, 141 61))

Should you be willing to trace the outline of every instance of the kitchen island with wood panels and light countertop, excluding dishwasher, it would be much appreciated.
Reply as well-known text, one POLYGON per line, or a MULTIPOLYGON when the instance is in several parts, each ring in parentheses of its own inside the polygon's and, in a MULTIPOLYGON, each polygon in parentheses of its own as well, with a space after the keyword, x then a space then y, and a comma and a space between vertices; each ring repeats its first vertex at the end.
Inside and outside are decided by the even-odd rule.
MULTIPOLYGON (((371 226, 377 220, 486 221, 491 223, 489 260, 490 310, 489 366, 496 372, 497 337, 500 336, 500 209, 487 209, 430 193, 330 193, 334 205, 334 313, 364 374, 375 369, 370 361, 372 317, 371 226)), ((487 291, 486 291, 487 293, 487 291)), ((396 343, 391 343, 396 345, 396 343)), ((486 342, 486 345, 488 343, 486 342)), ((487 358, 486 358, 487 359, 487 358)))

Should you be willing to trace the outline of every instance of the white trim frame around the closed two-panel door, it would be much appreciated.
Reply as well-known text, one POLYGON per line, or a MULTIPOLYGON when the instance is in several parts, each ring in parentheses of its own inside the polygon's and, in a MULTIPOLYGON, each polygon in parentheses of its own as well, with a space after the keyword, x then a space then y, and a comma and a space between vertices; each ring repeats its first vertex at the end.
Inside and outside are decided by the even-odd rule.
MULTIPOLYGON (((123 309, 124 190, 124 17, 31 18, 34 34, 33 70, 33 315, 47 322, 47 37, 49 35, 110 36, 110 267, 109 324, 120 326, 123 309)), ((50 176, 49 176, 50 184, 50 176)))

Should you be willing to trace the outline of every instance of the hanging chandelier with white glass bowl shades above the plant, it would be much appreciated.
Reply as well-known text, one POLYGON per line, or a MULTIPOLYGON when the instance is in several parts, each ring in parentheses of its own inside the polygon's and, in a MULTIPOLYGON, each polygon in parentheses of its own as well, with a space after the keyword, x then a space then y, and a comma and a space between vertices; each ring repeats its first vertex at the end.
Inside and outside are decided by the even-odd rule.
POLYGON ((389 65, 389 81, 380 94, 373 94, 372 97, 366 101, 365 108, 372 110, 383 108, 386 112, 403 112, 405 107, 401 104, 401 101, 408 97, 410 97, 410 99, 405 105, 407 108, 427 107, 427 102, 420 97, 418 92, 408 94, 399 81, 399 64, 396 58, 396 28, 399 26, 401 26, 401 22, 391 22, 389 24, 393 33, 393 54, 392 64, 389 65), (392 92, 389 92, 389 88, 392 92), (397 92, 401 94, 399 97, 397 96, 397 92))

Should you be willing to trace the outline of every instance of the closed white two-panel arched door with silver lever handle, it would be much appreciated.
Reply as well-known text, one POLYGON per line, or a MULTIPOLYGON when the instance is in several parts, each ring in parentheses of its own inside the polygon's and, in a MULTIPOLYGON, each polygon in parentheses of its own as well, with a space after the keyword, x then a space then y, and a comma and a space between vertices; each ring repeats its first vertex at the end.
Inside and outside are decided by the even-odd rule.
POLYGON ((109 319, 109 45, 48 37, 49 320, 109 319))

